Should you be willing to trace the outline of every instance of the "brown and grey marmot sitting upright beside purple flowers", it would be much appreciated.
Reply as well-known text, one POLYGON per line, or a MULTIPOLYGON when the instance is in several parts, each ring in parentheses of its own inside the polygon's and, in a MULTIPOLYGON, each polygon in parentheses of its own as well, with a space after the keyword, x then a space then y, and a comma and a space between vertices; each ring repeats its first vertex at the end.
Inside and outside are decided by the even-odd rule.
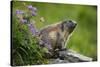
POLYGON ((52 56, 54 56, 59 50, 65 50, 65 43, 76 25, 75 21, 64 20, 44 27, 40 30, 39 34, 42 42, 41 46, 46 47, 52 56))

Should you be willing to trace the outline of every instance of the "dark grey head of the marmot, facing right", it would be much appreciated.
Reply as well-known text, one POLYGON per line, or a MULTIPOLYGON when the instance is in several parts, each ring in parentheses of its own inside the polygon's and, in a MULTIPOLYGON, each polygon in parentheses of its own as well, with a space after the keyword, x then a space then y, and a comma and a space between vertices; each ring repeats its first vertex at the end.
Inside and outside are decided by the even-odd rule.
POLYGON ((75 21, 65 20, 65 21, 62 21, 61 29, 62 29, 62 31, 67 31, 70 34, 73 32, 76 25, 77 25, 77 23, 75 21))

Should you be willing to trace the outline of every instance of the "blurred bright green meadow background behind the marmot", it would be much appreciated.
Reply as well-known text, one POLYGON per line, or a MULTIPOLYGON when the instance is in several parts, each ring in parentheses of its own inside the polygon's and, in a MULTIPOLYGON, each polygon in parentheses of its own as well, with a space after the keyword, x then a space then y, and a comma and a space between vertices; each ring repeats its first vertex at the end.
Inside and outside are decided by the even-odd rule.
POLYGON ((78 25, 67 48, 97 60, 97 6, 15 1, 13 12, 17 9, 26 10, 24 4, 37 8, 38 15, 34 20, 38 29, 65 19, 76 21, 78 25), (45 22, 40 21, 41 17, 45 22))

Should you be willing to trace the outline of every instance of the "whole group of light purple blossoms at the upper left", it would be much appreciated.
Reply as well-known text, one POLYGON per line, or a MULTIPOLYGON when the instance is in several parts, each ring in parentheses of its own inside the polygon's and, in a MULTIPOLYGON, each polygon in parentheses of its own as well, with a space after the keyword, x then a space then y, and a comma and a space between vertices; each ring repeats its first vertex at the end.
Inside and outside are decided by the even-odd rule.
POLYGON ((22 10, 16 10, 16 15, 19 21, 23 24, 27 24, 31 33, 36 35, 37 29, 33 21, 31 21, 32 16, 36 16, 37 8, 33 7, 32 5, 27 6, 29 12, 24 12, 22 10), (28 15, 30 13, 30 15, 28 15))

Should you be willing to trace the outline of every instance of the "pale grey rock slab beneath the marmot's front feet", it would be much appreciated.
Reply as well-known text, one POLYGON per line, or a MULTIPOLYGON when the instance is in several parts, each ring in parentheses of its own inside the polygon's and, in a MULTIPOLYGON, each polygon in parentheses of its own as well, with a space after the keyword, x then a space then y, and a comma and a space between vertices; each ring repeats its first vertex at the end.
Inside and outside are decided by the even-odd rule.
POLYGON ((75 63, 75 62, 90 62, 92 58, 81 55, 73 50, 60 51, 59 55, 64 59, 50 59, 50 64, 58 63, 75 63))

